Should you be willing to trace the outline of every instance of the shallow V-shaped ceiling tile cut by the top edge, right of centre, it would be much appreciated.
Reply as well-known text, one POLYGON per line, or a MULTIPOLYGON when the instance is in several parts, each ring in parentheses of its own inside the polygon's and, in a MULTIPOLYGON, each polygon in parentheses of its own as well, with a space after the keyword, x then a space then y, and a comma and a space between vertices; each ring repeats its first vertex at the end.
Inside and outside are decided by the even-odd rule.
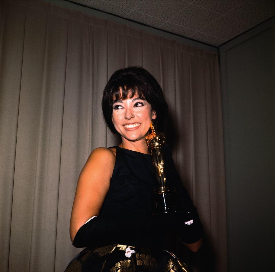
POLYGON ((195 0, 193 4, 224 14, 241 2, 243 0, 195 0))

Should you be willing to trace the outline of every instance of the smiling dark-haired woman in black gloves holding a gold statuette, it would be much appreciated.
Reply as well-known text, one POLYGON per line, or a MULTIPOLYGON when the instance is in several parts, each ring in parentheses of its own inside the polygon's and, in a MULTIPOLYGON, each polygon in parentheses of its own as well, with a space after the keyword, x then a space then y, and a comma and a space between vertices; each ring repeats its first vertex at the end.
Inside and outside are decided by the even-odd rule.
POLYGON ((166 176, 188 213, 152 216, 152 190, 158 183, 145 137, 151 121, 160 127, 167 113, 160 85, 141 67, 118 70, 104 89, 102 109, 109 129, 121 135, 121 143, 93 150, 80 173, 70 238, 75 247, 87 248, 66 271, 190 271, 162 250, 168 232, 178 233, 194 252, 202 243, 197 210, 169 150, 165 152, 166 176))

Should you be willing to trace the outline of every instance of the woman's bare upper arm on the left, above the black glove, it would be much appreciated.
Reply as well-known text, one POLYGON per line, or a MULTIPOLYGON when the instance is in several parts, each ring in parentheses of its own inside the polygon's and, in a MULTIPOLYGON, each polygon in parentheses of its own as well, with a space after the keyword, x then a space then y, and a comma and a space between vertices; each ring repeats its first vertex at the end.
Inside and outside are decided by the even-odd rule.
POLYGON ((95 149, 85 163, 76 186, 70 220, 70 238, 99 211, 110 187, 115 155, 110 149, 95 149))

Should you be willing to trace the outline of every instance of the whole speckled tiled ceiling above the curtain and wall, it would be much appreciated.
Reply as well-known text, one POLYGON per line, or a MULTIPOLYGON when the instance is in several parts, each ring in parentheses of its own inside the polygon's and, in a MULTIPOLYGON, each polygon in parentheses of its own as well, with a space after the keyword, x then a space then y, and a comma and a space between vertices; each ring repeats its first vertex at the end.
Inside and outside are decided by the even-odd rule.
POLYGON ((219 47, 275 16, 275 0, 70 0, 219 47))

